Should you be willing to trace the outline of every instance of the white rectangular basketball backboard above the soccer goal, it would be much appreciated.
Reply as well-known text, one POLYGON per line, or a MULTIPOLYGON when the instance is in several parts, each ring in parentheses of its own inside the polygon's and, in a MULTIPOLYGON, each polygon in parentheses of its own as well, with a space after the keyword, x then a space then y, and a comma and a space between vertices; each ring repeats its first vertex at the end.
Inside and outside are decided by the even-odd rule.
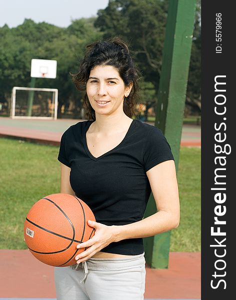
POLYGON ((55 78, 56 60, 51 59, 31 59, 31 77, 55 78))

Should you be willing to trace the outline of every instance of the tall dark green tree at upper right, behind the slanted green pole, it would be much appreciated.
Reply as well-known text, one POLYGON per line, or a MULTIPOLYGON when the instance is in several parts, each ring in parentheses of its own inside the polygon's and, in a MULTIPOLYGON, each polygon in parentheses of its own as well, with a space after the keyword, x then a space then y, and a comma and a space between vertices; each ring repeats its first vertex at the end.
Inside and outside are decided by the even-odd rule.
MULTIPOLYGON (((194 30, 196 38, 193 39, 186 97, 193 106, 200 94, 199 0, 197 5, 194 30)), ((98 10, 98 17, 94 22, 104 32, 103 38, 118 35, 129 42, 130 52, 142 71, 143 80, 151 82, 154 87, 152 103, 159 86, 167 8, 167 0, 109 0, 105 9, 98 10)))

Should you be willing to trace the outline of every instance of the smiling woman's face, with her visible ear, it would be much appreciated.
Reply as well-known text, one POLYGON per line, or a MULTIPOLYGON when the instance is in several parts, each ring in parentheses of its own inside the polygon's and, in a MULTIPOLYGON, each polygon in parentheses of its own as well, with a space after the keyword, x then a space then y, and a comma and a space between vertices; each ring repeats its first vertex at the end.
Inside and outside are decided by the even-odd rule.
POLYGON ((131 90, 126 87, 116 68, 111 65, 97 65, 90 71, 86 83, 89 102, 98 114, 123 112, 123 99, 131 90))

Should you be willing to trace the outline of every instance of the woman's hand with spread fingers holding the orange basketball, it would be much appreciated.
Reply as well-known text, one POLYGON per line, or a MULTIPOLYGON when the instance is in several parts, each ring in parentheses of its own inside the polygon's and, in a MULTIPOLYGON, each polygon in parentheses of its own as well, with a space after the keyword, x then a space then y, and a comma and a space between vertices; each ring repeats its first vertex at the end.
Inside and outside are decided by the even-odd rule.
POLYGON ((92 257, 96 252, 107 246, 113 240, 114 226, 107 226, 95 221, 88 220, 88 225, 95 228, 94 235, 87 241, 79 243, 77 248, 86 248, 86 250, 75 256, 76 263, 83 262, 92 257))

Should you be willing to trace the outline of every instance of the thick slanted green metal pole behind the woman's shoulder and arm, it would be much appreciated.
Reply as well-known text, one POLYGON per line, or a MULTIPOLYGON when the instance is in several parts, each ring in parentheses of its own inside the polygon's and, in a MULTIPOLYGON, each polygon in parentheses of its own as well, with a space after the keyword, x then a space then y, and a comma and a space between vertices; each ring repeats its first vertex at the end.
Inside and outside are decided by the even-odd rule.
MULTIPOLYGON (((169 0, 155 126, 166 136, 178 168, 183 111, 191 53, 195 0, 169 0)), ((156 212, 150 195, 144 217, 156 212)), ((145 259, 154 268, 167 268, 170 231, 144 238, 145 259)))

